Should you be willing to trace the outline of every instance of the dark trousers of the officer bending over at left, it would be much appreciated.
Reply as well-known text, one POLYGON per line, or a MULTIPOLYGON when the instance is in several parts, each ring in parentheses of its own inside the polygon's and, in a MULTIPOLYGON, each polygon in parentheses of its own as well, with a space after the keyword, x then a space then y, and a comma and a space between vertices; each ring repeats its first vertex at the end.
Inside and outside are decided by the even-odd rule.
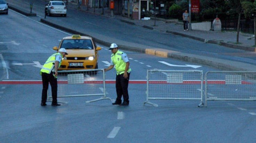
POLYGON ((45 103, 47 100, 47 90, 49 86, 49 82, 51 84, 52 88, 52 97, 53 97, 53 103, 57 103, 57 79, 53 76, 53 72, 50 74, 42 72, 42 84, 43 84, 43 89, 42 89, 42 103, 45 103))

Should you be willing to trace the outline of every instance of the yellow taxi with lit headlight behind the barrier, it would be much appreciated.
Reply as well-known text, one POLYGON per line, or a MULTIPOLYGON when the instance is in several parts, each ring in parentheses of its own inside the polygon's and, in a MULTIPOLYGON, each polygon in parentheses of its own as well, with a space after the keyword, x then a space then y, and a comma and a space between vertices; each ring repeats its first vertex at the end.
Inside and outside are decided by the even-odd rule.
POLYGON ((98 51, 93 38, 89 36, 72 35, 62 38, 59 47, 53 50, 59 51, 65 48, 68 55, 62 60, 59 70, 83 70, 98 69, 98 51))

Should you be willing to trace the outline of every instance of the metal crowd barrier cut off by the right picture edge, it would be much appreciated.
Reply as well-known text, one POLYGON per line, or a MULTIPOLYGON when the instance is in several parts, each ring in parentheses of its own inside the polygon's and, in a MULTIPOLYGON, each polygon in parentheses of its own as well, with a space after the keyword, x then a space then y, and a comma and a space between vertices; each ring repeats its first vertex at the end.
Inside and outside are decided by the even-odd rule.
POLYGON ((208 71, 205 73, 205 106, 214 100, 256 100, 256 72, 208 71))

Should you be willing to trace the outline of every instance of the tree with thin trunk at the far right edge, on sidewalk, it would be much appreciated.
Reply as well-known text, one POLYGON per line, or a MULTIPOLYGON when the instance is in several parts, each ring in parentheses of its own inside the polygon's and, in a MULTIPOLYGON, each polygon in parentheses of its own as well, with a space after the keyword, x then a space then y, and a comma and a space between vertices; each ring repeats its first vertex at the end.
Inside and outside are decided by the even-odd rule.
POLYGON ((243 1, 242 2, 243 13, 246 17, 254 17, 254 46, 256 45, 256 1, 243 1))

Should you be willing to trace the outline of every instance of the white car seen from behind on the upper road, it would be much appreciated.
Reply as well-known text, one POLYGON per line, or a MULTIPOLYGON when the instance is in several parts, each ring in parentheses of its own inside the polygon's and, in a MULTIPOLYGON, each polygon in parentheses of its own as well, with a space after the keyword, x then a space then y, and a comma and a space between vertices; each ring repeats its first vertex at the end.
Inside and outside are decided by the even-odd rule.
POLYGON ((63 1, 49 1, 47 5, 45 5, 45 12, 49 16, 52 15, 63 15, 67 16, 67 7, 63 1))

